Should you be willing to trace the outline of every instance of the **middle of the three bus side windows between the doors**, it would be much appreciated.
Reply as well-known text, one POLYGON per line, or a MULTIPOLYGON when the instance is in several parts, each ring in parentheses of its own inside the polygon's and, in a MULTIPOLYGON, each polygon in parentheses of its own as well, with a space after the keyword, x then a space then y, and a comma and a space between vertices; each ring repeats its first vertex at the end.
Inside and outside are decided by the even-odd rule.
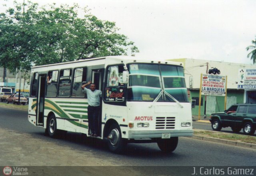
POLYGON ((59 97, 70 97, 72 69, 60 70, 59 97))

